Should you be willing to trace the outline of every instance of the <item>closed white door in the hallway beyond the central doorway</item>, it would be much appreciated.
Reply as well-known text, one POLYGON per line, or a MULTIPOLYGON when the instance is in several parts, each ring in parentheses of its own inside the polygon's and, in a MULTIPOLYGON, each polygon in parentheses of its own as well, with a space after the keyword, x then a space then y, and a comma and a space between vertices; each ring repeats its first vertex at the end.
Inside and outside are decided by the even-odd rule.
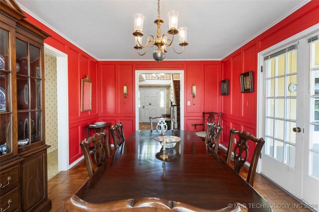
POLYGON ((158 113, 158 89, 142 89, 142 122, 150 122, 158 113))

